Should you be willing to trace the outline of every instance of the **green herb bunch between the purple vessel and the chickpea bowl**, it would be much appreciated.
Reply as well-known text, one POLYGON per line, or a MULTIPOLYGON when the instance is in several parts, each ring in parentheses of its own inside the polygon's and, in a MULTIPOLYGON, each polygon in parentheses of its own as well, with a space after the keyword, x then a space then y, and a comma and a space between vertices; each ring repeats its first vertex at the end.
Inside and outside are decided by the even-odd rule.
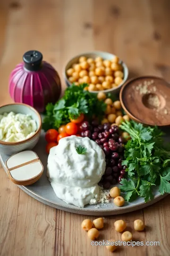
POLYGON ((68 87, 64 96, 53 105, 48 103, 42 128, 46 131, 50 128, 58 129, 62 124, 67 124, 70 119, 76 119, 81 113, 87 115, 89 119, 93 115, 102 118, 106 109, 106 104, 97 99, 97 95, 84 91, 88 86, 86 83, 68 87))

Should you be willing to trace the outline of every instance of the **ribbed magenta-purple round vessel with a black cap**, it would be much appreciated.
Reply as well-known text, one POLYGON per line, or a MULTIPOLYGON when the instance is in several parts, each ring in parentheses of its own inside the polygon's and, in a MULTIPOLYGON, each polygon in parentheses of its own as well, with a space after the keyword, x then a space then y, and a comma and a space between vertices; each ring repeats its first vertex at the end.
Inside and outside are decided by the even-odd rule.
POLYGON ((9 94, 15 102, 26 103, 43 112, 47 103, 59 99, 59 75, 51 64, 42 61, 38 51, 26 52, 23 61, 10 74, 9 94))

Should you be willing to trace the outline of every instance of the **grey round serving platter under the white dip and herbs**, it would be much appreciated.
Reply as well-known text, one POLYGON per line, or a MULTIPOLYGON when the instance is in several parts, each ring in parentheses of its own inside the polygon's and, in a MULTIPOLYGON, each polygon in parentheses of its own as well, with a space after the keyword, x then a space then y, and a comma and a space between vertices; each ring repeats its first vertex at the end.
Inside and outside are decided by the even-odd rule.
MULTIPOLYGON (((167 139, 168 138, 166 138, 166 141, 167 139)), ((170 141, 170 137, 169 137, 169 141, 170 141)), ((41 178, 36 183, 29 186, 18 185, 18 187, 22 189, 24 192, 26 192, 28 195, 32 196, 34 199, 38 201, 41 201, 44 204, 50 205, 59 210, 65 210, 65 211, 73 212, 77 214, 104 216, 104 215, 116 215, 116 214, 134 211, 134 210, 139 210, 161 200, 163 197, 167 195, 167 194, 161 195, 158 192, 158 190, 155 190, 154 199, 152 201, 145 203, 142 198, 138 198, 136 199, 136 201, 133 201, 130 203, 126 202, 123 207, 117 207, 116 205, 114 205, 112 200, 110 200, 110 203, 105 203, 105 204, 99 203, 98 205, 87 205, 84 208, 79 208, 74 205, 68 204, 65 201, 60 200, 56 196, 46 176, 48 155, 45 153, 45 145, 46 145, 46 142, 44 139, 44 133, 42 132, 38 144, 33 149, 34 152, 39 156, 42 162, 42 165, 44 166, 44 171, 41 178)), ((8 155, 4 155, 3 152, 0 152, 0 161, 6 172, 7 170, 5 167, 5 162, 8 159, 8 157, 9 157, 8 155)))

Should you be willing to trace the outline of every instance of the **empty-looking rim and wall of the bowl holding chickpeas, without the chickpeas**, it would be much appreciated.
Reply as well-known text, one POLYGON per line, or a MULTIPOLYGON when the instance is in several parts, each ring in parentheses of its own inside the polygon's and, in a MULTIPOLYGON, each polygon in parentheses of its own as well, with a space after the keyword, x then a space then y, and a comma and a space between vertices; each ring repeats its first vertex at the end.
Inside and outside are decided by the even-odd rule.
MULTIPOLYGON (((113 59, 113 57, 115 56, 114 54, 110 54, 110 53, 106 53, 106 52, 100 52, 100 51, 93 51, 93 52, 87 52, 87 53, 82 53, 79 55, 74 56, 72 59, 70 59, 68 61, 68 63, 66 64, 64 71, 63 71, 63 75, 64 75, 64 79, 65 82, 67 84, 67 86, 71 86, 71 83, 68 81, 68 77, 67 77, 67 70, 69 68, 72 67, 73 64, 78 63, 78 59, 80 56, 85 56, 87 58, 95 58, 95 57, 102 57, 103 60, 111 60, 113 59)), ((111 93, 118 93, 120 91, 121 86, 127 81, 128 78, 128 68, 127 65, 119 60, 119 64, 121 64, 123 66, 123 73, 124 73, 124 78, 121 84, 119 84, 119 86, 115 87, 115 88, 111 88, 108 90, 103 90, 103 92, 111 92, 111 93)), ((91 91, 92 93, 98 93, 99 91, 91 91)))

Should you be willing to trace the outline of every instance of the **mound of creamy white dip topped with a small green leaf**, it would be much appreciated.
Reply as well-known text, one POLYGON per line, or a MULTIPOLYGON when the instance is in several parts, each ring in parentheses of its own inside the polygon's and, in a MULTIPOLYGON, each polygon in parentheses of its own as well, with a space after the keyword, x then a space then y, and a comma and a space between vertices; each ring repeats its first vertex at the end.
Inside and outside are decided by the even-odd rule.
POLYGON ((105 171, 105 154, 100 146, 88 137, 70 136, 59 140, 48 156, 47 176, 57 197, 84 207, 93 204, 99 193, 97 183, 105 171), (87 149, 85 154, 76 152, 77 146, 87 149))

